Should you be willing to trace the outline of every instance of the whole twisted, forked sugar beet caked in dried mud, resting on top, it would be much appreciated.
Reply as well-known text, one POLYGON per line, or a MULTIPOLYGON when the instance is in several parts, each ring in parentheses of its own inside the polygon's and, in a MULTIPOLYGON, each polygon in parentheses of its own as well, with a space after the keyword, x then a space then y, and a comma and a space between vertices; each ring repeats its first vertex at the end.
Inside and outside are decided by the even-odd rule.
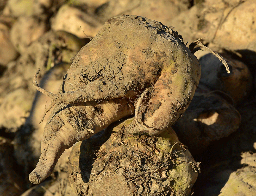
POLYGON ((188 107, 200 73, 198 59, 167 26, 140 16, 109 19, 74 57, 58 94, 38 87, 35 76, 35 87, 53 98, 46 112, 56 107, 30 180, 40 183, 65 148, 134 114, 134 105, 130 132, 160 134, 188 107))

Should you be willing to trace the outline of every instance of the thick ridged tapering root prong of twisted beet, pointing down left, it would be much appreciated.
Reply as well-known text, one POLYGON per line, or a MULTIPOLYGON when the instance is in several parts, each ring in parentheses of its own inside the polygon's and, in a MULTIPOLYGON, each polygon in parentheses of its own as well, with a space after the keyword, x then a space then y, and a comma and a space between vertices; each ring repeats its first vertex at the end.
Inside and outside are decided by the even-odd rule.
POLYGON ((132 113, 134 107, 126 99, 56 106, 45 126, 39 163, 29 174, 29 180, 34 184, 41 183, 53 172, 65 149, 132 113))

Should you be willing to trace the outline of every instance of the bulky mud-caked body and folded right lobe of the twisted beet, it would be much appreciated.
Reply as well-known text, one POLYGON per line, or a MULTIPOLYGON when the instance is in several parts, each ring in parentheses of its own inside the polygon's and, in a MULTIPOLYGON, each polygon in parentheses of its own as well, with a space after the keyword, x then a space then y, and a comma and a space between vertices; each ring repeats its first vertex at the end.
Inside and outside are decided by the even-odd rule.
POLYGON ((145 113, 144 123, 153 129, 163 129, 180 117, 191 102, 200 76, 197 59, 176 32, 139 16, 109 19, 73 61, 63 92, 81 93, 82 101, 136 100, 148 89, 138 115, 145 113), (166 120, 162 116, 158 122, 154 113, 165 114, 166 120))

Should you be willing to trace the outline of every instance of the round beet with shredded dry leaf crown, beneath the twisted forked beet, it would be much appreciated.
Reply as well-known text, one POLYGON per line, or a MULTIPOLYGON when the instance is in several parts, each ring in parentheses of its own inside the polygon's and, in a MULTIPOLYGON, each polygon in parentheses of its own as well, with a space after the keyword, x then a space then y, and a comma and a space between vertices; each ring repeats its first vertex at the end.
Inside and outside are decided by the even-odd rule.
POLYGON ((132 136, 124 127, 132 120, 109 127, 104 144, 101 136, 73 146, 68 173, 77 195, 190 195, 198 163, 175 132, 132 136))

